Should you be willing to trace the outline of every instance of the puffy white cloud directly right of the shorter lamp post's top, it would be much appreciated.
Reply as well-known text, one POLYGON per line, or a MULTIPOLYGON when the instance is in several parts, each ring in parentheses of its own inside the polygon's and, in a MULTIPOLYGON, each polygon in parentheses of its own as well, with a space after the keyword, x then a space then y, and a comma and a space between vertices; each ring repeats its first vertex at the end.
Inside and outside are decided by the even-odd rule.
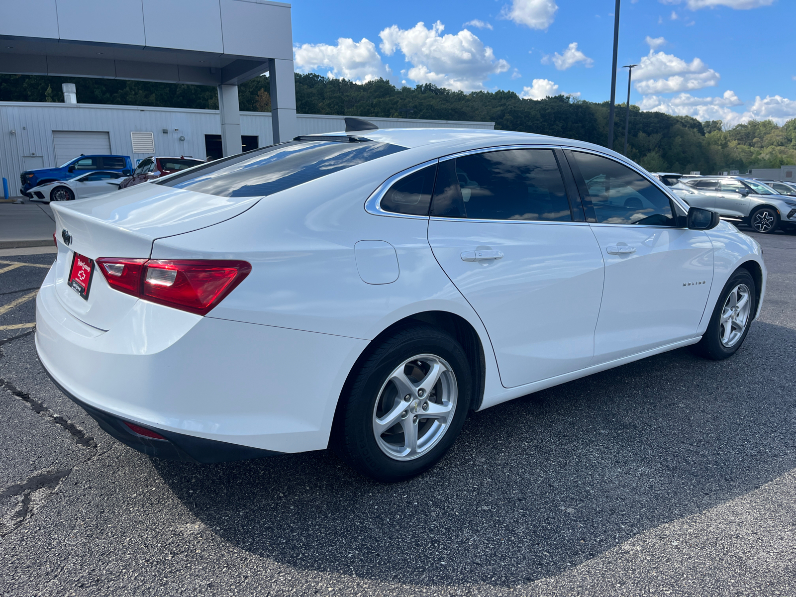
POLYGON ((646 37, 650 53, 642 57, 633 72, 636 89, 643 94, 690 92, 719 83, 721 76, 708 68, 702 60, 694 58, 691 62, 667 54, 655 53, 655 49, 665 43, 663 37, 646 37))

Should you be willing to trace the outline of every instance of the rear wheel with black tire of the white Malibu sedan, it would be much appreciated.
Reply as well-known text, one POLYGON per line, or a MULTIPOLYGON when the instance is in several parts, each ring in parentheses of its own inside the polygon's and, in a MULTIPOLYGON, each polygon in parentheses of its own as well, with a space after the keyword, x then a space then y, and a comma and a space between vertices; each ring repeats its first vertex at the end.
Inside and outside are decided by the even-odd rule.
POLYGON ((425 324, 398 330, 352 372, 333 447, 378 481, 412 478, 453 445, 472 393, 470 364, 455 338, 425 324))

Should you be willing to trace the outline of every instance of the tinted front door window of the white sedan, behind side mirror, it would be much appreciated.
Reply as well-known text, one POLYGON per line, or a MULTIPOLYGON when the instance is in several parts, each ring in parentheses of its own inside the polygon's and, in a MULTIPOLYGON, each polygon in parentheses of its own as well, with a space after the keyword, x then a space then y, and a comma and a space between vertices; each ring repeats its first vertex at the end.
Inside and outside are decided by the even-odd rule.
POLYGON ((673 226, 669 197, 635 170, 609 158, 573 151, 581 194, 602 224, 673 226))

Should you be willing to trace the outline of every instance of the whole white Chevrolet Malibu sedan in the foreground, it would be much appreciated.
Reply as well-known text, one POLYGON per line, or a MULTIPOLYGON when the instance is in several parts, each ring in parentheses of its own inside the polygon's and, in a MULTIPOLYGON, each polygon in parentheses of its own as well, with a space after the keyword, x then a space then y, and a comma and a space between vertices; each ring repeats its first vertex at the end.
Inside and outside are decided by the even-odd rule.
POLYGON ((470 411, 729 357, 759 313, 759 244, 619 154, 347 120, 53 204, 37 351, 108 433, 192 462, 331 445, 396 481, 470 411))

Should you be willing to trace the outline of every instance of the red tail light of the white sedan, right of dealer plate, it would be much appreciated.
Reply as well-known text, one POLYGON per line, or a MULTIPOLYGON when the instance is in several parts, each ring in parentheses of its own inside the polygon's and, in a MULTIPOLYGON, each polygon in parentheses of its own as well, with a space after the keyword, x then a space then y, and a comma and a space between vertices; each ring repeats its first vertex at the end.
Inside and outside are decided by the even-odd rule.
POLYGON ((205 315, 252 271, 245 261, 96 259, 111 288, 150 302, 205 315))

